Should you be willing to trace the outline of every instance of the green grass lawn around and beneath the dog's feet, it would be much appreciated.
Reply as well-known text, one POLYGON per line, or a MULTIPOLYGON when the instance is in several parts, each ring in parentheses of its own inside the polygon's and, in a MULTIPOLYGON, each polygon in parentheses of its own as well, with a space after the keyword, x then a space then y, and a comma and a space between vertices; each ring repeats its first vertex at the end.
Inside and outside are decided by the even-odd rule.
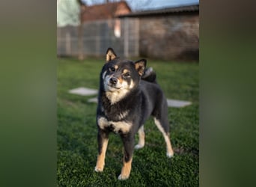
POLYGON ((58 186, 199 186, 198 64, 147 61, 168 98, 192 105, 168 108, 174 158, 165 156, 164 138, 149 119, 144 125, 145 147, 135 150, 129 179, 119 181, 121 139, 110 135, 104 171, 94 172, 97 105, 87 101, 93 96, 68 93, 78 87, 97 89, 103 63, 104 59, 58 59, 58 186))

